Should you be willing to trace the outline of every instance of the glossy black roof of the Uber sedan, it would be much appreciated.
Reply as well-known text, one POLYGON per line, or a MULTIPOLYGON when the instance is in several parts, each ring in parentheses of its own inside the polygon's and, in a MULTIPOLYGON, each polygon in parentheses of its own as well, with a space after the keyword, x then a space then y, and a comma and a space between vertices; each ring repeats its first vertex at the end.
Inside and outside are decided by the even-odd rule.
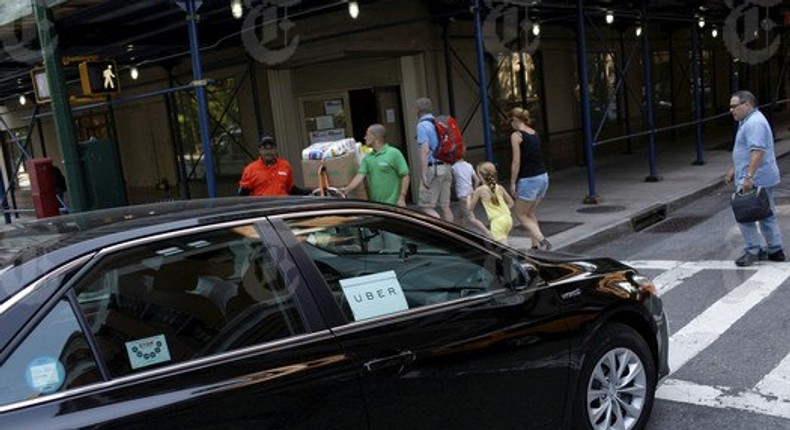
POLYGON ((122 241, 280 213, 365 207, 396 210, 394 206, 345 199, 223 197, 127 206, 16 223, 0 232, 0 279, 9 275, 8 272, 16 272, 13 277, 5 277, 7 282, 0 282, 0 303, 35 277, 122 241), (22 270, 23 266, 31 265, 34 269, 22 270))

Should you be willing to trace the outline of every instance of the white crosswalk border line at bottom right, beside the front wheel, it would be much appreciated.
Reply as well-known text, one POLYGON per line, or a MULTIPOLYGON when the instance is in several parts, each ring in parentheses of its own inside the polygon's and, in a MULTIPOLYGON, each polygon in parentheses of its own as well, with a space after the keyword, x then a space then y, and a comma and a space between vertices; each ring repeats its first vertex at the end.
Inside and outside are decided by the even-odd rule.
POLYGON ((787 398, 766 396, 756 390, 741 391, 668 379, 658 388, 656 398, 720 409, 741 409, 790 419, 790 402, 787 398))

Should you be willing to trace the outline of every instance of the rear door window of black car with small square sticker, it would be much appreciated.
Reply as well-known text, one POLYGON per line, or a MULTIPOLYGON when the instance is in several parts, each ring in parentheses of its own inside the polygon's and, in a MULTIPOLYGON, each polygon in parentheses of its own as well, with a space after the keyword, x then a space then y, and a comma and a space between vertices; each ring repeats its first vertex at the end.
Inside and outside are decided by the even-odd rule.
POLYGON ((75 289, 113 377, 305 332, 252 226, 120 251, 75 289))

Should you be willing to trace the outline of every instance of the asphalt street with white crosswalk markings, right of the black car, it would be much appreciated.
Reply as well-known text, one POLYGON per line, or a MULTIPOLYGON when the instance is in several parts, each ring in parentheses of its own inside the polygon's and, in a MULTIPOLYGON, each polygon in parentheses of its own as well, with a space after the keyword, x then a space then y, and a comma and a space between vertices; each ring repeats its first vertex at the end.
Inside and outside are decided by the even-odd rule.
MULTIPOLYGON (((790 157, 776 191, 790 246, 790 157)), ((648 429, 790 429, 790 262, 736 267, 742 239, 729 187, 642 231, 584 249, 654 277, 670 325, 672 373, 648 429)), ((787 249, 786 249, 787 251, 787 249)))

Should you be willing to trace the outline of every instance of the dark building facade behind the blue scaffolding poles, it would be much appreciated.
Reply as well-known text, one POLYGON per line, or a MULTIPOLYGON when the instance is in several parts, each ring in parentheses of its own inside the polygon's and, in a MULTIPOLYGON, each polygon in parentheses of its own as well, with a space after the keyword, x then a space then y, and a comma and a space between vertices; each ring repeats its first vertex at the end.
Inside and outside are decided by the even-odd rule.
MULTIPOLYGON (((327 137, 362 142, 372 123, 387 127, 388 141, 404 152, 416 175, 413 104, 422 96, 434 101, 437 113, 453 113, 458 119, 470 161, 485 159, 489 145, 503 178, 510 166, 507 112, 516 106, 532 113, 550 169, 563 169, 584 166, 587 148, 592 148, 593 160, 614 152, 639 152, 655 144, 650 136, 664 146, 678 139, 698 140, 698 127, 703 128, 698 142, 703 150, 721 149, 728 142, 706 141, 704 130, 731 127, 726 113, 733 91, 752 90, 761 103, 772 104, 767 108, 771 112, 784 109, 787 98, 783 11, 770 8, 758 13, 762 22, 775 25, 758 29, 744 42, 749 39, 743 37, 748 20, 734 29, 726 27, 735 9, 691 9, 691 15, 650 15, 645 10, 635 16, 607 9, 606 2, 579 2, 579 9, 568 2, 524 6, 481 1, 488 4, 480 13, 481 53, 469 2, 359 2, 359 15, 352 18, 347 2, 329 7, 321 3, 331 2, 305 1, 301 9, 289 10, 276 2, 251 1, 237 20, 230 17, 230 8, 212 9, 212 2, 206 3, 209 19, 201 20, 198 28, 213 37, 200 52, 210 80, 207 111, 219 196, 235 194, 241 169, 257 158, 261 135, 276 137, 301 184, 300 159, 306 146, 327 137), (702 15, 694 14, 699 10, 709 13, 704 25, 702 15), (223 13, 228 16, 220 18, 223 13), (610 13, 613 19, 607 23, 610 13), (480 65, 488 95, 485 120, 480 65), (587 134, 582 65, 587 71, 587 134)), ((137 10, 126 18, 145 14, 137 10)), ((65 25, 58 30, 70 31, 65 25)), ((173 31, 186 32, 186 24, 174 25, 173 31)), ((134 51, 129 47, 118 59, 122 93, 113 102, 72 103, 76 140, 117 145, 129 203, 204 197, 207 167, 199 106, 191 88, 174 90, 189 87, 193 80, 189 52, 157 55, 141 49, 129 60, 134 51)), ((78 82, 68 85, 69 93, 79 92, 78 82)), ((11 133, 29 142, 30 156, 47 156, 59 165, 62 143, 49 107, 34 109, 32 100, 21 105, 16 94, 6 96, 3 105, 2 117, 10 129, 3 138, 4 184, 12 182, 17 161, 25 158, 11 133)), ((678 150, 689 151, 693 159, 695 148, 678 150)))

